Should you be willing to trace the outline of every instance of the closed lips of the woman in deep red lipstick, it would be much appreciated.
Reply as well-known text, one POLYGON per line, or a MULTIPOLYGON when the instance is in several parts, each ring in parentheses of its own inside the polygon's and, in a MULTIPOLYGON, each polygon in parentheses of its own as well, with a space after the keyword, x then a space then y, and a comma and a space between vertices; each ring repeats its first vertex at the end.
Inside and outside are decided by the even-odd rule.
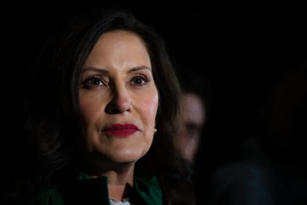
POLYGON ((139 128, 131 123, 127 124, 112 124, 111 126, 108 126, 103 131, 107 132, 111 135, 116 135, 120 137, 126 137, 128 135, 132 135, 134 132, 137 132, 139 128))

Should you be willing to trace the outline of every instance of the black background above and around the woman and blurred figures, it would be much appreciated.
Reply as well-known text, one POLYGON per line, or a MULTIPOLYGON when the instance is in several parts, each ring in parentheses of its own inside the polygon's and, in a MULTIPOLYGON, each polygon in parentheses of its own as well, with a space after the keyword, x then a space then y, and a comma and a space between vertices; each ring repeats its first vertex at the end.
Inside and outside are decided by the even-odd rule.
POLYGON ((22 84, 37 49, 57 29, 55 22, 62 15, 68 17, 67 10, 82 6, 131 9, 165 38, 176 66, 211 82, 211 114, 201 142, 201 149, 209 151, 199 156, 211 162, 208 168, 244 157, 239 144, 257 132, 261 108, 278 83, 307 59, 307 12, 303 3, 85 2, 14 2, 3 7, 8 12, 2 19, 2 32, 8 35, 2 42, 8 45, 2 87, 8 91, 4 100, 4 113, 8 114, 5 130, 12 132, 22 122, 22 84))

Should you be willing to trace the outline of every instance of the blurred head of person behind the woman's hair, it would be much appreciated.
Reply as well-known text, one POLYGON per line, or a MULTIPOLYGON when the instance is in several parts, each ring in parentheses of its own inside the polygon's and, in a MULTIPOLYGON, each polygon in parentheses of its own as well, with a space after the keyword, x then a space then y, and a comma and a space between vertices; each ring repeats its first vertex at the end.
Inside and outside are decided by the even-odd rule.
POLYGON ((193 164, 210 110, 211 85, 199 73, 187 71, 184 67, 179 70, 182 87, 179 147, 184 158, 193 164))

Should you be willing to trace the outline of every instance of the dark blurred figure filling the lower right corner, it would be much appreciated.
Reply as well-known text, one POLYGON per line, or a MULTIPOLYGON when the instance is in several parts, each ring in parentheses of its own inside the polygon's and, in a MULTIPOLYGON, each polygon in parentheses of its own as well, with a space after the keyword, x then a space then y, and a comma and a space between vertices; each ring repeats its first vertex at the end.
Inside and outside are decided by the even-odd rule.
POLYGON ((208 183, 206 200, 196 204, 307 204, 306 68, 303 64, 286 72, 269 88, 260 106, 258 129, 246 133, 239 145, 241 158, 220 164, 206 182, 196 181, 196 187, 208 183))

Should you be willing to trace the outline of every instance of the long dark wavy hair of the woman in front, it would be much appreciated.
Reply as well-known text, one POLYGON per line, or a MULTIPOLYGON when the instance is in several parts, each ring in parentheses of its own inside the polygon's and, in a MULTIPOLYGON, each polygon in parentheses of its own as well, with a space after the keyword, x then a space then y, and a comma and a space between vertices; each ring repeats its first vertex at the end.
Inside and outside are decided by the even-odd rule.
POLYGON ((26 88, 29 92, 25 131, 33 147, 31 166, 36 171, 28 174, 37 181, 45 181, 56 170, 73 164, 77 156, 76 138, 84 130, 79 104, 83 65, 102 34, 131 31, 145 42, 159 94, 158 131, 149 152, 136 163, 136 170, 146 170, 160 178, 166 204, 193 204, 191 172, 175 142, 180 86, 164 40, 131 12, 96 10, 85 14, 77 15, 68 26, 63 26, 64 33, 58 32, 54 40, 48 41, 32 69, 32 80, 26 88))

